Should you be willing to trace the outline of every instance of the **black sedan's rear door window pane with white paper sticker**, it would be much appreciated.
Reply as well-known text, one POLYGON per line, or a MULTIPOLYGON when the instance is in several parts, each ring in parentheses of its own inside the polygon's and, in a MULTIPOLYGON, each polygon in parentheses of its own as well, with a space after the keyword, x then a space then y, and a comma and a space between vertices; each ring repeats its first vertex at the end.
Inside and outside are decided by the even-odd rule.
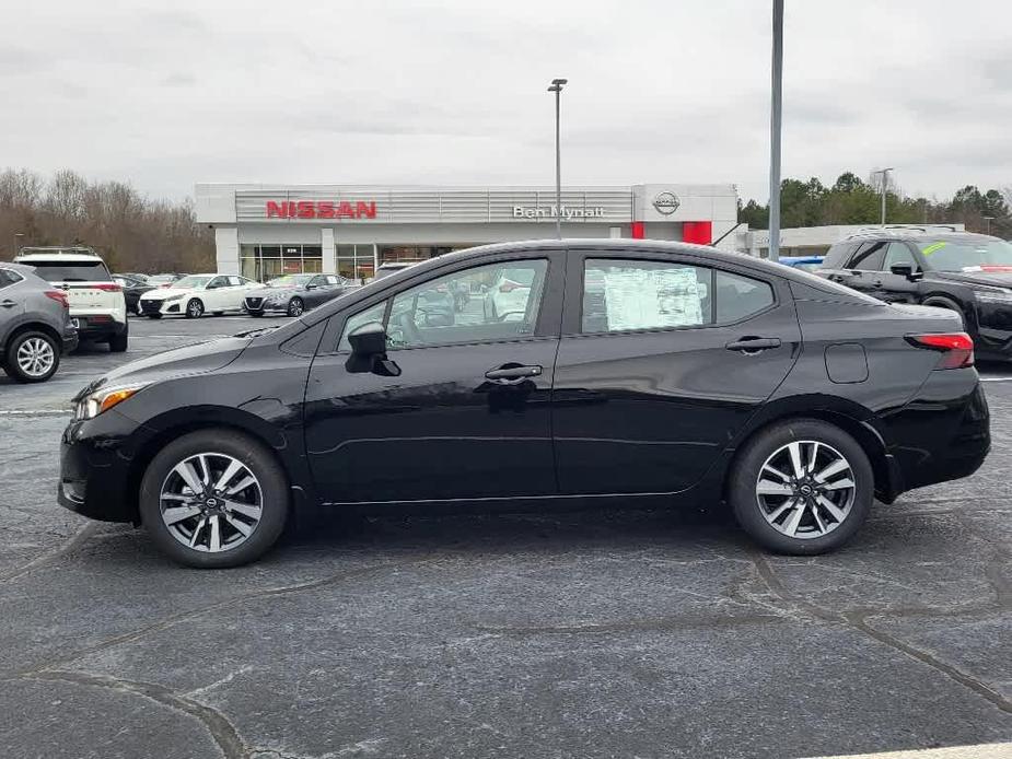
POLYGON ((712 269, 664 261, 588 260, 583 331, 620 332, 711 324, 712 269))

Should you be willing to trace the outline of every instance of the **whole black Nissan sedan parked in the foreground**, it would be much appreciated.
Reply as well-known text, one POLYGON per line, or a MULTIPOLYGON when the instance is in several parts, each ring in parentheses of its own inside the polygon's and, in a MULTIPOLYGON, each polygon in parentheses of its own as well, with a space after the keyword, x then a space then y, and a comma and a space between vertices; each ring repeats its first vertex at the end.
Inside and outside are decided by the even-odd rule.
POLYGON ((655 242, 447 254, 74 404, 60 502, 195 567, 261 556, 296 503, 725 501, 764 547, 819 553, 989 448, 957 314, 655 242), (519 281, 495 313, 431 306, 519 281))

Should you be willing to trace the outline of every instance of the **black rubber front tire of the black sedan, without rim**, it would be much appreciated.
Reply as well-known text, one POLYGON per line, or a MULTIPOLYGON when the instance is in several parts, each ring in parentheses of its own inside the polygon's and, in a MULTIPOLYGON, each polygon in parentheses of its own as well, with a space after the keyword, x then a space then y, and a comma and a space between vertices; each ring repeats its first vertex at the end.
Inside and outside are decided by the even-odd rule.
POLYGON ((240 567, 259 559, 281 536, 288 521, 289 504, 284 470, 270 451, 253 437, 226 429, 190 432, 162 448, 144 471, 139 498, 141 523, 158 548, 173 561, 197 569, 240 567), (173 537, 162 518, 162 484, 173 467, 200 453, 225 454, 240 460, 259 480, 263 492, 261 514, 253 533, 234 548, 219 552, 184 546, 173 537))

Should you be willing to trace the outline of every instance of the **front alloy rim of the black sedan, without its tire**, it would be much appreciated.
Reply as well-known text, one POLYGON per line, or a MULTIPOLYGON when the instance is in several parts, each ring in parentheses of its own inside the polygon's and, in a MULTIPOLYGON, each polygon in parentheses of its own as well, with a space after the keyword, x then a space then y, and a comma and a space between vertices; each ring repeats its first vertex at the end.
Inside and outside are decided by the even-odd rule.
POLYGON ((260 522, 264 492, 245 464, 199 453, 174 466, 160 493, 162 522, 187 548, 209 553, 245 542, 260 522))

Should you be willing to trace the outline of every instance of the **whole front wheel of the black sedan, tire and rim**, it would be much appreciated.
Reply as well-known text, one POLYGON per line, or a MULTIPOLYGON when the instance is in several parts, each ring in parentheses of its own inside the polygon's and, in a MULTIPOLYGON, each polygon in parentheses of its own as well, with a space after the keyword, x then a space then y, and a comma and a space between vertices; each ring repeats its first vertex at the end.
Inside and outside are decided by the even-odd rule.
POLYGON ((277 459, 230 430, 173 441, 141 481, 141 522, 164 553, 188 567, 258 559, 281 535, 288 512, 288 483, 277 459))

